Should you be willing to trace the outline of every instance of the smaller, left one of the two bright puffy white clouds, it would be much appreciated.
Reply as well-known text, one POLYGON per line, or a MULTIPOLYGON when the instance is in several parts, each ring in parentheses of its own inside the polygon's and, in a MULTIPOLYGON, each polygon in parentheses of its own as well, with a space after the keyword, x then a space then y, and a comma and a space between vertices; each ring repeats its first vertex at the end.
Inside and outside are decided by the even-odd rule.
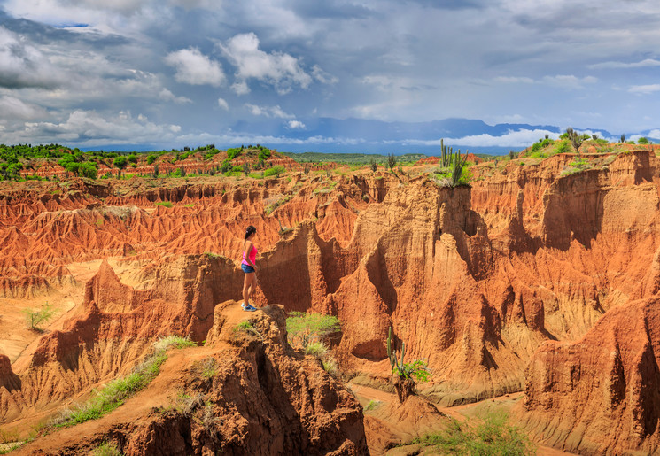
POLYGON ((220 86, 225 81, 220 63, 206 57, 197 48, 170 52, 165 62, 175 67, 175 80, 179 82, 220 86))

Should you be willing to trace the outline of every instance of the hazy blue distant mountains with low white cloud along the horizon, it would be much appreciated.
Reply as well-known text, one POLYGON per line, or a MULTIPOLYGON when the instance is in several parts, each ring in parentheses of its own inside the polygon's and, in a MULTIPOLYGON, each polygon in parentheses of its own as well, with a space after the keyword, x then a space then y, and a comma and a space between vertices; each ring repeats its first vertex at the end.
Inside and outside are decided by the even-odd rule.
MULTIPOLYGON (((578 128, 589 134, 616 140, 602 128, 578 128)), ((544 135, 557 137, 562 128, 554 125, 502 123, 488 125, 482 120, 445 119, 428 122, 385 122, 381 120, 314 118, 299 120, 265 119, 260 122, 237 122, 234 132, 245 135, 274 136, 280 151, 303 152, 366 152, 366 153, 439 153, 439 140, 457 149, 475 153, 502 154, 521 151, 544 135), (291 143, 284 138, 291 139, 291 143)), ((650 131, 625 133, 626 137, 647 135, 650 131)), ((658 130, 653 130, 656 135, 658 130)), ((657 138, 649 137, 649 139, 657 138)))

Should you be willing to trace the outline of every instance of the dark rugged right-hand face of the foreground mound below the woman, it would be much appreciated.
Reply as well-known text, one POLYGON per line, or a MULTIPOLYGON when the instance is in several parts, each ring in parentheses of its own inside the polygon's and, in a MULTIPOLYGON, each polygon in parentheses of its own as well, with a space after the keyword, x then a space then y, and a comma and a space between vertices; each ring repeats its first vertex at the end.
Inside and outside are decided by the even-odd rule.
POLYGON ((256 314, 258 334, 237 334, 222 313, 219 305, 207 345, 235 348, 214 358, 218 374, 206 397, 217 424, 193 425, 193 442, 222 454, 368 453, 361 406, 318 360, 291 351, 282 306, 256 314))

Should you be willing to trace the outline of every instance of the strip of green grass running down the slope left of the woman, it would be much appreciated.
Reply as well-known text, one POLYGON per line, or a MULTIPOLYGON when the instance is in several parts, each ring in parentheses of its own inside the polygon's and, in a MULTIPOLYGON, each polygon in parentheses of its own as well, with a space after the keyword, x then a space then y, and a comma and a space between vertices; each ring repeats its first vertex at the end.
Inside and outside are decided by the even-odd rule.
POLYGON ((106 413, 112 412, 121 406, 137 391, 144 389, 156 375, 159 375, 160 366, 167 359, 167 348, 185 348, 196 346, 194 342, 180 336, 167 336, 159 339, 153 346, 154 351, 144 359, 133 372, 108 383, 103 390, 97 392, 94 398, 77 406, 74 410, 66 409, 59 417, 52 421, 56 428, 66 428, 89 420, 96 420, 106 413))

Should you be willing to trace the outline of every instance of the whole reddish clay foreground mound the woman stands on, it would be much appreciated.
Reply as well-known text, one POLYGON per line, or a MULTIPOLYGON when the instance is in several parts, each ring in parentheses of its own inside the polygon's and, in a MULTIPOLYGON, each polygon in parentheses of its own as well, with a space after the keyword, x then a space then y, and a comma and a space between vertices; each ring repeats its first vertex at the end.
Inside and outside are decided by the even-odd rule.
POLYGON ((206 345, 170 350, 160 374, 124 406, 38 437, 16 454, 366 454, 361 406, 286 342, 282 306, 217 305, 206 345), (250 321, 253 332, 237 328, 250 321), (205 369, 213 369, 211 372, 205 369))

